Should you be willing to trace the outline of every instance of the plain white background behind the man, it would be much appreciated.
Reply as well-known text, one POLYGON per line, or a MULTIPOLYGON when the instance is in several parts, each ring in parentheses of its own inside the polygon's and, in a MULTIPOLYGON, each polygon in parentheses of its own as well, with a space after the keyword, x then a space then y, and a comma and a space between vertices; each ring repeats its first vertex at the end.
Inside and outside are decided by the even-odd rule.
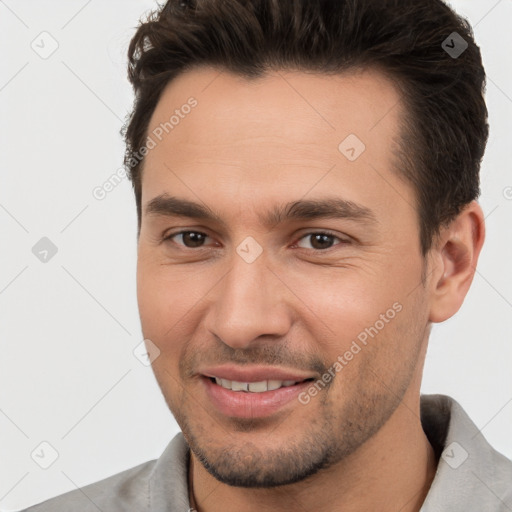
MULTIPOLYGON (((464 306, 434 326, 422 391, 453 396, 512 458, 512 2, 451 5, 473 25, 488 74, 487 240, 464 306)), ((132 353, 142 335, 131 184, 102 201, 92 195, 121 167, 119 130, 132 103, 125 54, 154 7, 0 1, 4 511, 157 458, 178 432, 151 369, 132 353), (42 31, 59 44, 47 59, 31 48, 42 31), (43 236, 58 247, 48 263, 32 253, 43 236), (58 452, 46 470, 31 458, 42 441, 58 452)))

